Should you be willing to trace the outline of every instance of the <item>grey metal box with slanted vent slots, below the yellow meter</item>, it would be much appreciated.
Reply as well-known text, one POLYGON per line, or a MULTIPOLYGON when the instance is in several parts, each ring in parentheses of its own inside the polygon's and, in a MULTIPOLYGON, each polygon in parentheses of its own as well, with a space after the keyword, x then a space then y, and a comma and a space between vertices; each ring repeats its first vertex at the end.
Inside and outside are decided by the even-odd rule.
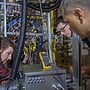
POLYGON ((25 73, 25 90, 66 90, 66 71, 25 73))

